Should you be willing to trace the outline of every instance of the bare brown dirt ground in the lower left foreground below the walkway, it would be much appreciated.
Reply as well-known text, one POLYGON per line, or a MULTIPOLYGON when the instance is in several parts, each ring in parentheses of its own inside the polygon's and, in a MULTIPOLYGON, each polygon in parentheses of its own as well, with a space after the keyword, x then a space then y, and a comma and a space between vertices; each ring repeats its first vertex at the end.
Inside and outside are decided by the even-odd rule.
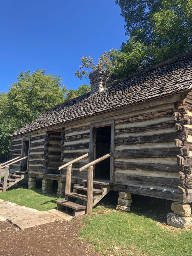
POLYGON ((17 229, 7 221, 0 222, 0 256, 68 256, 96 255, 94 247, 79 241, 78 228, 83 226, 82 217, 75 221, 53 223, 17 229))

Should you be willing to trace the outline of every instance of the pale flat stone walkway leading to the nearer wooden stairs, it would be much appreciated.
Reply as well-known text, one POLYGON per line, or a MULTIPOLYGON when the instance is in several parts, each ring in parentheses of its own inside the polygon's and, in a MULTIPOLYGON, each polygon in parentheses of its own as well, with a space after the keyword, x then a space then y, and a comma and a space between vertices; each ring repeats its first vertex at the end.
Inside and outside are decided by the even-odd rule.
POLYGON ((9 221, 23 230, 54 222, 56 220, 70 220, 73 216, 55 209, 38 211, 0 199, 0 221, 9 221))

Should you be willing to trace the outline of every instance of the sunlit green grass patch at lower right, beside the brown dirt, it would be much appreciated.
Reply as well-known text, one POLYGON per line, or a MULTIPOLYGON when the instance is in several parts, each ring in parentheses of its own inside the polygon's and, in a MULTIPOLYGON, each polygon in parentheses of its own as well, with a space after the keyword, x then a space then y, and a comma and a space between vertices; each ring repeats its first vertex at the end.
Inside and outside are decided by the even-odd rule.
POLYGON ((111 211, 84 222, 89 225, 81 229, 80 239, 104 255, 191 256, 192 232, 158 226, 149 217, 111 211))

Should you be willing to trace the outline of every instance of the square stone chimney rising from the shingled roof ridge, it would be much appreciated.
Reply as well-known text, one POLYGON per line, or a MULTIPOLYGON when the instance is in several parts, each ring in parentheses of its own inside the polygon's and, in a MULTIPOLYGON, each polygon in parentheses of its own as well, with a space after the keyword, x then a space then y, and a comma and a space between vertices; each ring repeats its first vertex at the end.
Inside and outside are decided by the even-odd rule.
POLYGON ((115 81, 115 76, 103 69, 97 69, 94 72, 89 74, 90 84, 91 84, 91 93, 90 95, 102 92, 106 85, 115 81))

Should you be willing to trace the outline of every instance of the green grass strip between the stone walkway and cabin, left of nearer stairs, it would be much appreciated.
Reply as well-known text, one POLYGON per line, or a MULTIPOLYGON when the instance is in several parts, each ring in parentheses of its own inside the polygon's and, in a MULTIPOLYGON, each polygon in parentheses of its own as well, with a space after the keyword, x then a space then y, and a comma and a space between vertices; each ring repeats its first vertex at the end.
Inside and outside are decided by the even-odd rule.
MULTIPOLYGON (((39 211, 47 211, 57 207, 56 194, 41 193, 41 189, 10 189, 6 192, 0 193, 0 199, 13 202, 18 205, 34 208, 39 211)), ((62 198, 59 198, 62 199, 62 198)))

